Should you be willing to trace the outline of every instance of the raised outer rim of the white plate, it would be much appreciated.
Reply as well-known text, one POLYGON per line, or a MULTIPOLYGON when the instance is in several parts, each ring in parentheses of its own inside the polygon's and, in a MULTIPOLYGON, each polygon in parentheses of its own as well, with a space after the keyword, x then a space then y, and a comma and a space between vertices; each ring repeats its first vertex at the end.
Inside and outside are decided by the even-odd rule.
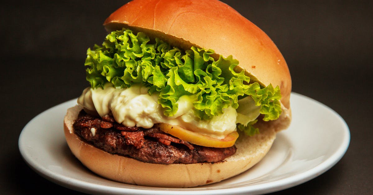
MULTIPOLYGON (((81 191, 81 192, 92 193, 93 190, 98 191, 98 192, 100 192, 100 191, 103 192, 103 190, 104 190, 106 193, 109 190, 109 193, 114 193, 114 194, 117 194, 117 193, 163 194, 164 192, 175 193, 175 194, 176 193, 177 194, 190 194, 190 193, 193 193, 193 194, 235 193, 235 194, 237 194, 237 193, 248 193, 248 192, 250 192, 250 193, 275 192, 275 191, 280 191, 282 189, 287 189, 287 188, 297 186, 301 183, 307 182, 307 181, 325 173, 327 170, 329 170, 331 167, 333 167, 336 163, 338 163, 339 160, 341 160, 341 158, 344 156, 344 154, 346 153, 346 151, 348 149, 348 146, 350 144, 350 139, 351 139, 350 130, 348 128, 347 123, 341 117, 341 115, 339 115, 336 111, 331 109, 329 106, 326 106, 325 104, 323 104, 323 103, 321 103, 317 100, 314 100, 310 97, 307 97, 305 95, 301 95, 301 94, 296 93, 296 92, 291 92, 291 98, 292 98, 292 96, 293 97, 295 96, 296 98, 303 98, 303 99, 307 99, 308 101, 315 102, 315 103, 321 105, 322 107, 326 108, 327 110, 331 111, 338 118, 338 120, 340 122, 342 122, 342 126, 344 127, 344 128, 342 128, 343 131, 341 131, 344 134, 343 140, 341 140, 341 142, 340 142, 341 144, 340 144, 339 148, 332 155, 327 157, 326 160, 322 161, 322 163, 320 163, 319 165, 317 165, 317 166, 315 166, 315 167, 313 167, 313 168, 311 168, 307 171, 304 171, 302 173, 286 177, 284 179, 271 181, 271 182, 267 182, 267 183, 261 183, 261 184, 257 184, 257 185, 250 185, 250 186, 244 185, 244 186, 236 186, 236 187, 233 187, 233 188, 225 188, 225 189, 209 189, 209 188, 216 188, 216 187, 156 188, 156 187, 146 187, 146 186, 141 186, 141 188, 145 187, 145 188, 148 188, 148 189, 136 189, 136 188, 125 188, 125 187, 124 188, 119 188, 119 187, 116 187, 116 186, 102 186, 100 184, 85 182, 83 180, 70 178, 70 177, 67 177, 67 176, 60 175, 60 174, 53 174, 53 171, 48 172, 46 170, 43 170, 43 168, 38 166, 34 162, 34 160, 32 160, 26 154, 26 151, 23 148, 23 143, 22 143, 23 142, 22 141, 23 140, 23 135, 27 131, 28 126, 30 126, 34 121, 36 121, 39 117, 41 117, 41 115, 43 115, 44 113, 46 113, 48 111, 51 111, 52 109, 57 109, 60 106, 69 105, 70 103, 72 104, 72 102, 74 102, 74 101, 76 102, 76 98, 68 100, 68 101, 63 102, 63 103, 59 103, 59 104, 57 104, 57 105, 55 105, 51 108, 46 109, 45 111, 41 112, 40 114, 38 114, 37 116, 32 118, 25 125, 25 127, 23 127, 23 129, 22 129, 22 131, 19 135, 18 148, 19 148, 19 151, 21 153, 21 156, 22 156, 23 160, 26 162, 26 164, 29 167, 32 168, 32 170, 34 170, 35 172, 37 172, 38 174, 40 174, 44 178, 46 178, 46 179, 48 179, 48 180, 50 180, 54 183, 57 183, 58 185, 61 185, 61 186, 64 186, 66 188, 73 189, 73 190, 76 190, 76 191, 81 191), (105 189, 102 189, 103 187, 105 189), (250 191, 247 190, 248 187, 250 187, 250 191)), ((282 133, 282 132, 280 132, 280 133, 282 133)))

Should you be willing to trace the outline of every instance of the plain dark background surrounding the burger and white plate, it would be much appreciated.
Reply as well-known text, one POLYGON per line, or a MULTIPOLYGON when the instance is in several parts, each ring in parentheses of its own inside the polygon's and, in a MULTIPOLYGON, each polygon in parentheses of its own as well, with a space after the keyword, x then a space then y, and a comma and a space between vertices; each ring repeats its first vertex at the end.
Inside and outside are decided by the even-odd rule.
MULTIPOLYGON (((37 114, 78 97, 88 86, 86 50, 102 43, 104 19, 125 2, 1 5, 0 194, 78 193, 32 171, 19 154, 18 137, 37 114)), ((334 167, 275 194, 373 194, 372 1, 225 2, 276 43, 293 92, 334 109, 350 127, 350 146, 334 167)))

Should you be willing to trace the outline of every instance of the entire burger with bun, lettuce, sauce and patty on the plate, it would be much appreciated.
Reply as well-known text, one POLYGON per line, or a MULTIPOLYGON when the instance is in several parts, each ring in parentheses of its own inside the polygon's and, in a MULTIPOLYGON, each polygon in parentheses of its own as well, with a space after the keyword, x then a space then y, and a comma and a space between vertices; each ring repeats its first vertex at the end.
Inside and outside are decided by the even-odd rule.
POLYGON ((291 121, 273 41, 217 0, 134 0, 87 50, 90 87, 64 119, 73 155, 118 182, 191 187, 240 174, 291 121))

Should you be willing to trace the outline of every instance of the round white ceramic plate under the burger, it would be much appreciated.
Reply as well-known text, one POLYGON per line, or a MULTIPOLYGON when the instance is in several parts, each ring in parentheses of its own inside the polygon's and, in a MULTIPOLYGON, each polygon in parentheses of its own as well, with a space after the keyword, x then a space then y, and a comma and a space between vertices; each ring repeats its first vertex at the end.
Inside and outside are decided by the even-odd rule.
POLYGON ((32 119, 19 136, 26 163, 47 179, 81 192, 96 194, 262 194, 304 183, 327 171, 345 154, 350 131, 332 109, 292 93, 293 120, 278 134, 269 153, 248 171, 195 188, 154 188, 103 179, 85 168, 73 155, 63 134, 70 100, 32 119))

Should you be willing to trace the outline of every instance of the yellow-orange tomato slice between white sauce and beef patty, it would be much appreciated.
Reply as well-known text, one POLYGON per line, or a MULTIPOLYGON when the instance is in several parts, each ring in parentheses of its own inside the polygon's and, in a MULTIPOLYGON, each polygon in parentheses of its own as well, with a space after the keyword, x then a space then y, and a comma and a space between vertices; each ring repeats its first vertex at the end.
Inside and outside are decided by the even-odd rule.
POLYGON ((166 133, 169 133, 179 139, 189 143, 194 143, 200 146, 208 146, 214 148, 228 148, 234 145, 238 138, 237 131, 229 133, 224 139, 216 139, 206 135, 202 135, 193 131, 189 131, 180 126, 170 125, 166 123, 156 124, 157 127, 166 133))

